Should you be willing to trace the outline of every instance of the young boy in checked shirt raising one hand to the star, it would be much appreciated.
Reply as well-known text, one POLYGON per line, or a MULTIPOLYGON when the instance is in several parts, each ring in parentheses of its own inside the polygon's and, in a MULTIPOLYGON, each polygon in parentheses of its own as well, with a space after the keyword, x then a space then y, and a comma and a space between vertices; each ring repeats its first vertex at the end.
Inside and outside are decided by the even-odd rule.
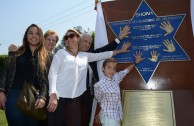
POLYGON ((119 83, 137 63, 144 59, 141 55, 142 53, 136 52, 135 62, 120 72, 116 72, 117 62, 115 59, 109 58, 104 61, 104 75, 94 85, 94 95, 101 107, 99 117, 102 126, 120 126, 122 105, 119 83))

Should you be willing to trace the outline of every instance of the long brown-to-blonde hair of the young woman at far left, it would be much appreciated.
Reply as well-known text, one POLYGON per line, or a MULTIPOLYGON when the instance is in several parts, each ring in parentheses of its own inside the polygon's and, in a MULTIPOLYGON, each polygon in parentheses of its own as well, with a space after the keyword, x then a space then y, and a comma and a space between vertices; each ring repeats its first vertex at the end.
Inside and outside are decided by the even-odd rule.
POLYGON ((31 27, 36 27, 38 29, 38 33, 40 35, 40 43, 37 47, 37 53, 38 53, 38 67, 39 67, 39 70, 40 72, 43 74, 47 71, 47 61, 48 61, 48 58, 49 58, 49 54, 48 54, 48 51, 46 50, 45 48, 45 45, 44 45, 44 37, 43 37, 43 32, 42 32, 42 29, 36 25, 36 24, 31 24, 25 31, 25 34, 24 34, 24 37, 23 37, 23 44, 21 47, 19 47, 19 49, 17 50, 16 54, 19 56, 21 54, 24 53, 25 49, 27 46, 29 46, 29 42, 28 42, 28 39, 27 39, 27 33, 29 31, 29 29, 31 27))

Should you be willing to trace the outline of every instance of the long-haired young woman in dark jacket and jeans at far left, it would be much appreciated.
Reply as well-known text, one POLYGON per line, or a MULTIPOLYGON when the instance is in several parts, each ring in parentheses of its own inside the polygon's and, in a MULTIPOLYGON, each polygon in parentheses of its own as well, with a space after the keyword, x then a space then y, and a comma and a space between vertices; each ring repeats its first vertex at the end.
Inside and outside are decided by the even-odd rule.
POLYGON ((36 24, 25 31, 23 44, 16 52, 9 52, 0 80, 0 108, 5 110, 9 126, 37 126, 38 121, 22 113, 16 101, 23 83, 32 83, 39 90, 35 108, 45 106, 48 91, 49 53, 44 46, 43 32, 36 24))

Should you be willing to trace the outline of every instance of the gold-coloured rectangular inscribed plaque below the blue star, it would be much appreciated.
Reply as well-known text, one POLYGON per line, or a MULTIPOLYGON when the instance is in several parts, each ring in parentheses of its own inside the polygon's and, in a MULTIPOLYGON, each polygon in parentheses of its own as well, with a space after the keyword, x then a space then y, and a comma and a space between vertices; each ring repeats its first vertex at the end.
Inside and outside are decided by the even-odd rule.
POLYGON ((176 126, 172 91, 124 90, 122 126, 176 126))

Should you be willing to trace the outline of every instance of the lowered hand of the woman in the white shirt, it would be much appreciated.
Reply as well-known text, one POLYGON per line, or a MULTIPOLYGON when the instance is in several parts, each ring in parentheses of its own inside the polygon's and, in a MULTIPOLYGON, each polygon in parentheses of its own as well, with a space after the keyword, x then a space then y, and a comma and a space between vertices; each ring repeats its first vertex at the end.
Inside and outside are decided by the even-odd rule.
POLYGON ((57 96, 55 93, 50 95, 49 104, 47 106, 47 109, 49 112, 54 112, 57 109, 58 101, 57 96))

